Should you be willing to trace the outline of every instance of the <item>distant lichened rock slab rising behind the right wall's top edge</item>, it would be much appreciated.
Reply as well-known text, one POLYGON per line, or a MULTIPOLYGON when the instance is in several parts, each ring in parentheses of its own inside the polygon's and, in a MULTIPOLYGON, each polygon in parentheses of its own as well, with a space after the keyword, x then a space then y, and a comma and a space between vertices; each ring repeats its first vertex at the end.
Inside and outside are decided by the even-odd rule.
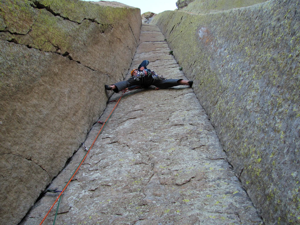
POLYGON ((266 0, 178 0, 176 6, 180 11, 190 13, 214 13, 222 10, 246 7, 266 0))

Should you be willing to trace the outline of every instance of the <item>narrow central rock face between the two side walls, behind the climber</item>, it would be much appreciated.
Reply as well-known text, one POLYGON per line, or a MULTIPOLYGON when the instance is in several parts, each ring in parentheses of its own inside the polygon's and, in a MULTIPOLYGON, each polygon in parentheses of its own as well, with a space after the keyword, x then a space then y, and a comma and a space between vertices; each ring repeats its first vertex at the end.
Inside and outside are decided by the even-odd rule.
MULTIPOLYGON (((149 59, 159 74, 185 78, 168 52, 158 27, 143 24, 131 68, 149 59)), ((100 128, 91 129, 87 146, 100 128)), ((85 153, 80 148, 50 187, 63 188, 85 153)), ((225 158, 192 88, 128 92, 62 194, 56 224, 262 224, 225 158)), ((38 224, 56 196, 46 193, 20 225, 38 224)))

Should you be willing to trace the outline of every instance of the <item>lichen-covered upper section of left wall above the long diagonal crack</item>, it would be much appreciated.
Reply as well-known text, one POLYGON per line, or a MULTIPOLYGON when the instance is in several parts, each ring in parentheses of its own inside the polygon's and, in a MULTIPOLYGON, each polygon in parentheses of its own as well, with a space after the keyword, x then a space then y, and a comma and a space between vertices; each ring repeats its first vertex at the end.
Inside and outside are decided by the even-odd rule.
POLYGON ((137 13, 134 17, 127 16, 138 9, 100 7, 83 1, 54 1, 51 4, 46 0, 26 1, 30 12, 35 12, 27 22, 23 20, 22 15, 29 14, 29 9, 23 12, 24 7, 18 7, 16 10, 10 6, 16 5, 14 1, 6 2, 10 2, 9 6, 6 5, 8 3, 3 4, 1 10, 8 15, 16 14, 16 20, 22 21, 22 26, 18 27, 25 27, 26 30, 15 28, 14 21, 12 25, 8 23, 10 21, 5 21, 7 28, 4 31, 7 32, 0 34, 3 40, 64 56, 72 55, 72 60, 105 74, 111 73, 115 61, 119 61, 121 67, 125 67, 123 56, 133 58, 134 47, 127 46, 123 40, 124 37, 134 36, 138 42, 138 27, 131 27, 132 21, 138 19, 137 13), (127 21, 123 21, 124 17, 127 21), (33 21, 35 22, 32 24, 33 21), (122 44, 116 48, 114 43, 122 44), (105 60, 108 52, 115 56, 114 60, 105 60), (122 55, 119 52, 122 52, 122 55))

